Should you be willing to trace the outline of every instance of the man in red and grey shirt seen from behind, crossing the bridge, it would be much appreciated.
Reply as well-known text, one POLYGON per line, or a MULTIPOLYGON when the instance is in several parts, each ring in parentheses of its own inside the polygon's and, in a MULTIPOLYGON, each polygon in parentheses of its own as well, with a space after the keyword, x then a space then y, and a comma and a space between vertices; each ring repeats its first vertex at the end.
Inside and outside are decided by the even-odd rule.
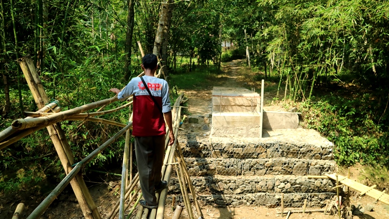
POLYGON ((132 135, 135 136, 135 155, 144 198, 139 203, 151 209, 158 207, 155 192, 167 186, 166 181, 161 181, 166 135, 163 117, 169 127, 169 145, 175 141, 169 87, 165 80, 154 77, 157 63, 156 55, 145 55, 141 65, 144 76, 132 78, 123 91, 109 90, 122 101, 134 95, 132 135))

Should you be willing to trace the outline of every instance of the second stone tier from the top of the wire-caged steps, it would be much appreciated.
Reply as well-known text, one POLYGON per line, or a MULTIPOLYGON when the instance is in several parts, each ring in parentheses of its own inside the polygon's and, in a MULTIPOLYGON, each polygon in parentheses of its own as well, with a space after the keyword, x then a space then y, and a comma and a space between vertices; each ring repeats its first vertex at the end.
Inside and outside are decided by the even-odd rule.
POLYGON ((306 159, 235 159, 235 158, 186 158, 189 174, 192 176, 264 176, 323 175, 336 172, 335 161, 306 159))

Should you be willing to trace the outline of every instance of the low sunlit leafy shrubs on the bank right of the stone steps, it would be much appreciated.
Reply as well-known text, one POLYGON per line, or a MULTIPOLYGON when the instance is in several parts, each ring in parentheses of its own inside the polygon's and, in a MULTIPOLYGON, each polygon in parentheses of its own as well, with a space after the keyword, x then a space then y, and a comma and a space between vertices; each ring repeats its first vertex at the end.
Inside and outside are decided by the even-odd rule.
POLYGON ((310 107, 303 105, 306 128, 317 129, 335 144, 338 164, 389 164, 388 126, 377 124, 370 98, 369 95, 361 99, 331 95, 321 97, 310 107))

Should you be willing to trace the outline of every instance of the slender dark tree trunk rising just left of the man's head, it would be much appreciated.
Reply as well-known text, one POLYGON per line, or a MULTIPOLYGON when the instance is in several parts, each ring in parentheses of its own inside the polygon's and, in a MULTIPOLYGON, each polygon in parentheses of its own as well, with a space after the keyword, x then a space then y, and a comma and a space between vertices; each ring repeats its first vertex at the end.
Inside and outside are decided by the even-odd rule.
POLYGON ((128 0, 128 14, 127 14, 127 32, 125 37, 125 60, 124 60, 124 81, 128 81, 131 76, 131 44, 134 33, 134 0, 128 0))

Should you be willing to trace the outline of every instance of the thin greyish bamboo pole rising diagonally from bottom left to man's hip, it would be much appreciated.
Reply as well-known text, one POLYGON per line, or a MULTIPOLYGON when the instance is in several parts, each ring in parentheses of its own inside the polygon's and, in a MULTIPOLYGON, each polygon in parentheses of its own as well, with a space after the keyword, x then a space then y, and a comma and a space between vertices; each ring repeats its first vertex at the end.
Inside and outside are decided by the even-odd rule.
POLYGON ((132 126, 132 123, 129 123, 125 128, 120 130, 118 133, 116 133, 114 136, 112 136, 110 139, 108 139, 104 144, 96 148, 94 151, 92 151, 86 158, 78 162, 75 167, 69 172, 69 174, 59 183, 55 189, 46 197, 45 200, 43 200, 37 208, 31 213, 31 215, 27 219, 36 219, 39 218, 45 210, 49 207, 49 205, 56 199, 56 197, 62 192, 62 190, 68 185, 69 183, 73 182, 72 179, 75 178, 80 171, 80 169, 85 165, 88 164, 93 158, 95 158, 98 154, 100 154, 104 149, 106 149, 107 146, 112 144, 114 141, 116 141, 120 136, 124 134, 126 130, 128 130, 132 126))

